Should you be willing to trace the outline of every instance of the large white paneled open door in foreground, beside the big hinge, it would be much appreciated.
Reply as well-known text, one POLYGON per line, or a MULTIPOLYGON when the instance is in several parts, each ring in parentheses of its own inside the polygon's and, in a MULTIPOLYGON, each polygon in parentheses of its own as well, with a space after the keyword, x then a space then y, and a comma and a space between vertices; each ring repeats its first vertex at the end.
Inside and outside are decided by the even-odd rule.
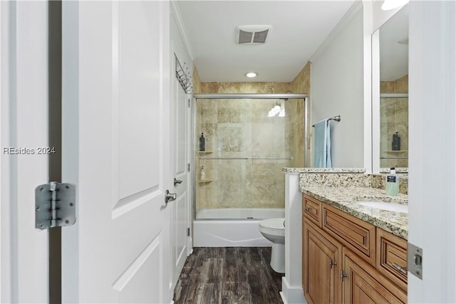
POLYGON ((170 303, 167 1, 63 1, 64 303, 170 303))

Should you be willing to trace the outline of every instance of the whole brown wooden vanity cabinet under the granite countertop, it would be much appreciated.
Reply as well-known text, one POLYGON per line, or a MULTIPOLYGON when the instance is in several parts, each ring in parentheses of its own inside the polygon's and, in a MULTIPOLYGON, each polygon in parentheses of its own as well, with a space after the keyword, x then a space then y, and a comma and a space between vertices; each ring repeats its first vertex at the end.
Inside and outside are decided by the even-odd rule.
POLYGON ((303 195, 309 303, 406 303, 407 241, 303 195))

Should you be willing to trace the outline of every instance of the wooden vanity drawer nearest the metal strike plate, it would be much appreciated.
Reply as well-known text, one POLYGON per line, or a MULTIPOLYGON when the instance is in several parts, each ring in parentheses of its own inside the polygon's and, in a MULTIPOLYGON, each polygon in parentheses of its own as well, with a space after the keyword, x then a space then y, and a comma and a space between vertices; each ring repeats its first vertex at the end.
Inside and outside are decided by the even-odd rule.
POLYGON ((407 241, 377 229, 377 269, 403 290, 407 290, 407 241))

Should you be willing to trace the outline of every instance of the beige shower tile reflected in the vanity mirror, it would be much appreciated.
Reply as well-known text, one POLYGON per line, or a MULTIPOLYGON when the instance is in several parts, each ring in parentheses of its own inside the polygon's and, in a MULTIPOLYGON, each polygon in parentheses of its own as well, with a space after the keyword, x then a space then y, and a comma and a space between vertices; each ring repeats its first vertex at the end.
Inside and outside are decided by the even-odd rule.
MULTIPOLYGON (((408 93, 408 75, 381 81, 380 93, 408 93)), ((408 98, 380 98, 380 167, 408 167, 408 98), (400 151, 391 150, 393 134, 400 136, 400 151)))

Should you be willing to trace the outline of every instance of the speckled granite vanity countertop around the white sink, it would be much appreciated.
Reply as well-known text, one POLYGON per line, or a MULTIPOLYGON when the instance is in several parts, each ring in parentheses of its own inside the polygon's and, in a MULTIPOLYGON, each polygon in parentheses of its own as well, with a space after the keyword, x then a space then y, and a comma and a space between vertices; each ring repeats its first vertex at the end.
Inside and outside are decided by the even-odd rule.
POLYGON ((363 206, 358 201, 387 201, 408 204, 408 196, 390 196, 385 190, 371 187, 301 187, 301 192, 330 206, 362 219, 402 239, 408 238, 408 214, 363 206))

